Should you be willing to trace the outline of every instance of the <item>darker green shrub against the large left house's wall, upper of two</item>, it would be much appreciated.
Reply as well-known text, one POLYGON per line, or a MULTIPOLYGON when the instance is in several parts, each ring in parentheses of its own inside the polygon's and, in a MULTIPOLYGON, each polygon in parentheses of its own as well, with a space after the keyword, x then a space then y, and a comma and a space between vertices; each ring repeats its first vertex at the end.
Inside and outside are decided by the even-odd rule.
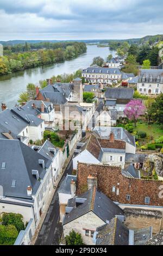
POLYGON ((18 232, 24 230, 23 216, 21 214, 4 213, 2 216, 2 225, 14 225, 18 232))

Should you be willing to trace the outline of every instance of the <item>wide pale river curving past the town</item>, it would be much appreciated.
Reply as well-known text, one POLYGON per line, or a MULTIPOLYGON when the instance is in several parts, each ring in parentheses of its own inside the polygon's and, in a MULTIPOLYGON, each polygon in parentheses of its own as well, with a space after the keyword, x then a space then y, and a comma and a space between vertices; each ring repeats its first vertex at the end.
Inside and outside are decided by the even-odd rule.
POLYGON ((87 45, 87 52, 76 59, 0 76, 0 104, 3 102, 8 108, 12 108, 17 103, 18 95, 26 90, 28 83, 38 84, 40 80, 51 78, 53 75, 72 73, 78 69, 87 68, 94 57, 101 56, 106 59, 109 54, 115 56, 115 52, 110 51, 108 47, 87 45))

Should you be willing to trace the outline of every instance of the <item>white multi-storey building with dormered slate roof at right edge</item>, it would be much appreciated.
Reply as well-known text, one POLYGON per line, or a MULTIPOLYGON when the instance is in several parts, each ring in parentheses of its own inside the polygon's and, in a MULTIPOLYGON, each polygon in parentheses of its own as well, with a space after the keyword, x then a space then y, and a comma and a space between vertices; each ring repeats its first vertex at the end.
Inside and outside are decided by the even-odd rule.
POLYGON ((141 69, 137 91, 145 95, 163 92, 163 73, 161 69, 141 69))

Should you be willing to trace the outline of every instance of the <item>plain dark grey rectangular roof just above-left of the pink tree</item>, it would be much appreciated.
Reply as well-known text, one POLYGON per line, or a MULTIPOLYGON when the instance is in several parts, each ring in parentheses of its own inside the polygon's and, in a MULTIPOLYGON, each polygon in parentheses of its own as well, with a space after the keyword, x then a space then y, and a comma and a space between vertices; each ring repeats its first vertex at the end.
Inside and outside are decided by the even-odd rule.
POLYGON ((107 88, 105 92, 106 99, 133 99, 134 89, 131 88, 107 88))

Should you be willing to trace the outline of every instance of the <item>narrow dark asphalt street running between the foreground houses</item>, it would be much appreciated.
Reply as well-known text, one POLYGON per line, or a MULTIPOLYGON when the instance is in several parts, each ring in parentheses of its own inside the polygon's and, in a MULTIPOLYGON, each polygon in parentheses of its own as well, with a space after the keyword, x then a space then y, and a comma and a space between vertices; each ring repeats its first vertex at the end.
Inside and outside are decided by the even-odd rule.
POLYGON ((59 239, 62 234, 62 225, 59 222, 59 198, 58 189, 61 182, 65 179, 65 176, 72 174, 72 160, 68 163, 68 166, 59 182, 58 188, 54 193, 52 202, 48 208, 45 220, 42 223, 39 235, 37 236, 35 245, 59 245, 59 239))

